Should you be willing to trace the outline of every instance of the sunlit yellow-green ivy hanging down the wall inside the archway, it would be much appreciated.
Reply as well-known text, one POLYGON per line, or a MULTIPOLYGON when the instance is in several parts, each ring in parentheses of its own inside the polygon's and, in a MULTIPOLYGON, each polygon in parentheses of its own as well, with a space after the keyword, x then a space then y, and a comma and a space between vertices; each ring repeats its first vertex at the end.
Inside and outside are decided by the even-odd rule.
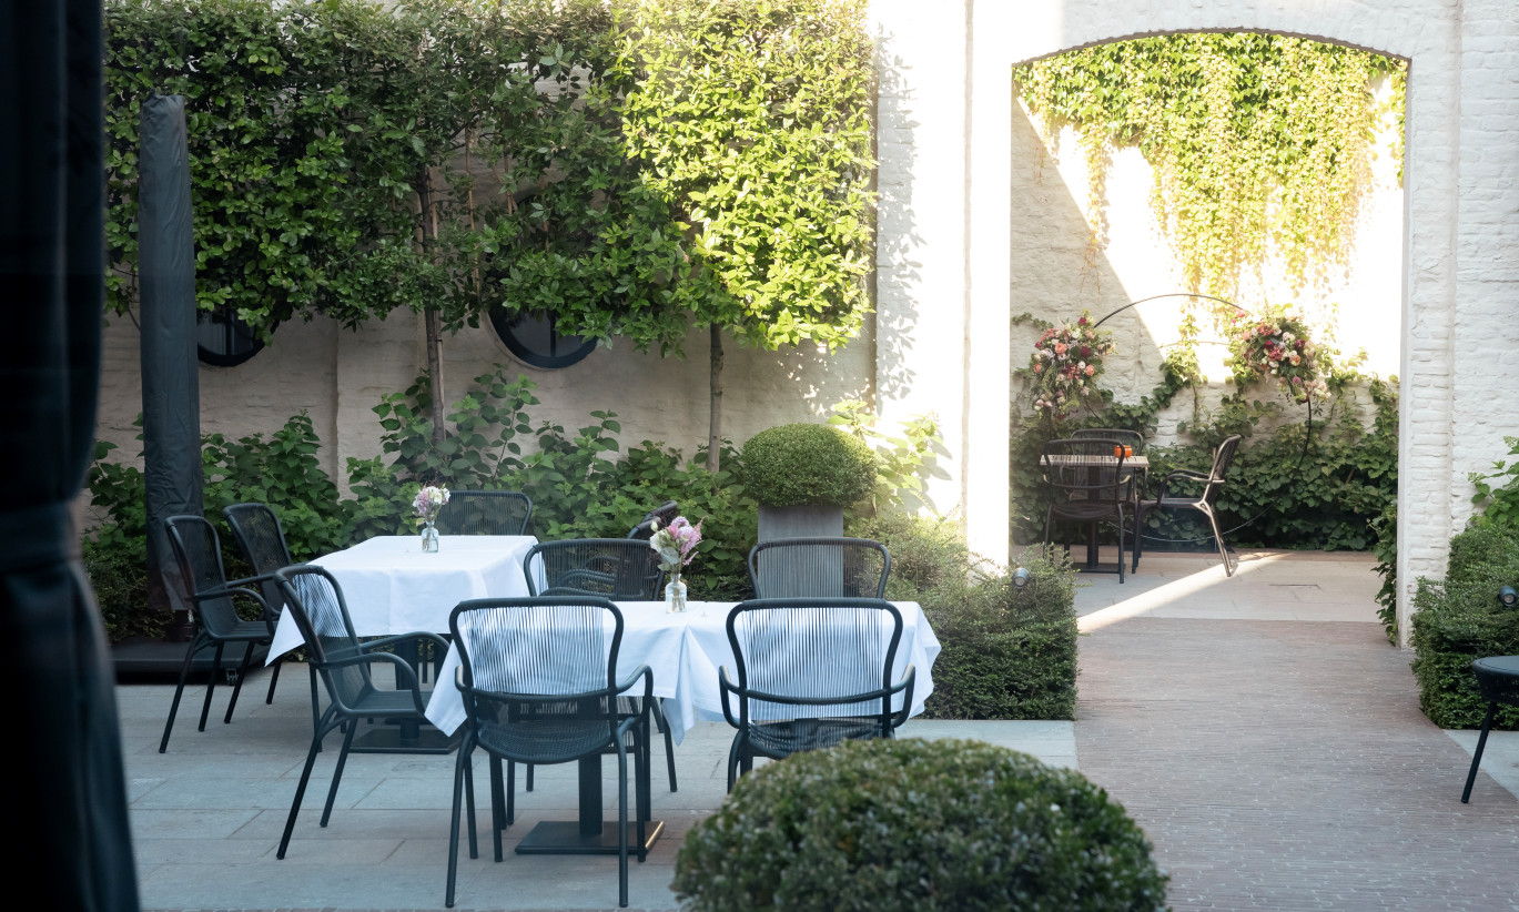
POLYGON ((1063 125, 1080 135, 1092 245, 1106 240, 1110 154, 1138 147, 1188 290, 1233 298, 1241 275, 1273 258, 1299 289, 1346 268, 1388 116, 1402 158, 1405 71, 1303 38, 1191 33, 1057 55, 1015 79, 1047 137, 1063 125), (1382 78, 1385 103, 1373 91, 1382 78))

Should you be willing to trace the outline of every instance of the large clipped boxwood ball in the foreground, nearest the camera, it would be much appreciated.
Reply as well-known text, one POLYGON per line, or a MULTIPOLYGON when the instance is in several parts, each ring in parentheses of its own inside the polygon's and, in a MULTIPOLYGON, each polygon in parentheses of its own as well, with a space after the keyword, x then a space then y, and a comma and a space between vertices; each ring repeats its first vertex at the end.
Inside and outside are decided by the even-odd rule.
POLYGON ((1150 851, 1078 772, 981 742, 846 742, 738 780, 674 889, 709 912, 1164 909, 1150 851))

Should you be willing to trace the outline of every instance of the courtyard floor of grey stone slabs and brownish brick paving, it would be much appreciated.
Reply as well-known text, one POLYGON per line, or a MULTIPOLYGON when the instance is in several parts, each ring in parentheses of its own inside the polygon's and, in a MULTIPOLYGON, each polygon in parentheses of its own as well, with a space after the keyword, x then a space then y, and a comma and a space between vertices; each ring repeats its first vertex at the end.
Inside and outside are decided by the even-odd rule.
MULTIPOLYGON (((977 737, 1078 768, 1154 841, 1174 909, 1519 909, 1519 734, 1489 739, 1463 806, 1475 733, 1442 733, 1419 713, 1411 654, 1376 623, 1372 561, 1241 558, 1233 579, 1217 558, 1159 553, 1124 585, 1082 578, 1078 722, 916 720, 902 734, 977 737)), ((453 757, 351 757, 324 830, 319 777, 336 751, 324 754, 290 851, 273 857, 310 740, 304 670, 281 678, 264 705, 267 678, 255 675, 231 725, 217 720, 223 690, 205 733, 187 689, 167 754, 156 749, 173 689, 118 687, 143 906, 442 907, 453 757)), ((676 906, 674 853, 722 803, 729 740, 725 725, 688 733, 676 793, 656 742, 665 834, 630 865, 633 909, 676 906)), ((615 787, 606 793, 615 813, 615 787)), ((462 853, 459 907, 615 907, 615 859, 510 853, 574 807, 573 765, 539 768, 532 793, 519 781, 506 860, 491 860, 489 839, 480 859, 462 853)))

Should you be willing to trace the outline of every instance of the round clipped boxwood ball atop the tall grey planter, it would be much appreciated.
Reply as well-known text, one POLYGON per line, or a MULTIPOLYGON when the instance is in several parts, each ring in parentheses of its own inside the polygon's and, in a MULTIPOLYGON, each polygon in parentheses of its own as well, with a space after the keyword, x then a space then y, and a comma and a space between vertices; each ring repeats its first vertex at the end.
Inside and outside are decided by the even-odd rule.
POLYGON ((875 454, 831 424, 781 424, 749 438, 744 486, 766 506, 849 506, 875 488, 875 454))

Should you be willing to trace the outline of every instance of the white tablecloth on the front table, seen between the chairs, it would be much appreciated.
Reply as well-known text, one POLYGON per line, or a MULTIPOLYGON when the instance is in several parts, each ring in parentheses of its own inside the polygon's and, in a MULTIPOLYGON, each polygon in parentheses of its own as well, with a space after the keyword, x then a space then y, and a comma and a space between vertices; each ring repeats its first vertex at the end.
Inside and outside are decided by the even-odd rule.
MULTIPOLYGON (((934 690, 931 669, 939 657, 939 638, 916 602, 895 602, 902 613, 902 641, 896 649, 893 681, 913 664, 917 681, 911 714, 924 711, 924 701, 934 690)), ((623 644, 617 655, 618 676, 647 664, 655 676, 655 696, 664 698, 664 716, 676 743, 697 719, 722 720, 723 702, 717 667, 726 664, 729 676, 734 657, 728 646, 728 613, 734 602, 691 602, 685 614, 667 614, 664 602, 618 602, 623 611, 623 644)), ((448 651, 437 673, 427 719, 441 731, 453 733, 465 722, 465 705, 457 689, 459 651, 448 651)), ((639 689, 643 684, 639 682, 639 689)), ((639 690, 641 692, 641 690, 639 690)))

